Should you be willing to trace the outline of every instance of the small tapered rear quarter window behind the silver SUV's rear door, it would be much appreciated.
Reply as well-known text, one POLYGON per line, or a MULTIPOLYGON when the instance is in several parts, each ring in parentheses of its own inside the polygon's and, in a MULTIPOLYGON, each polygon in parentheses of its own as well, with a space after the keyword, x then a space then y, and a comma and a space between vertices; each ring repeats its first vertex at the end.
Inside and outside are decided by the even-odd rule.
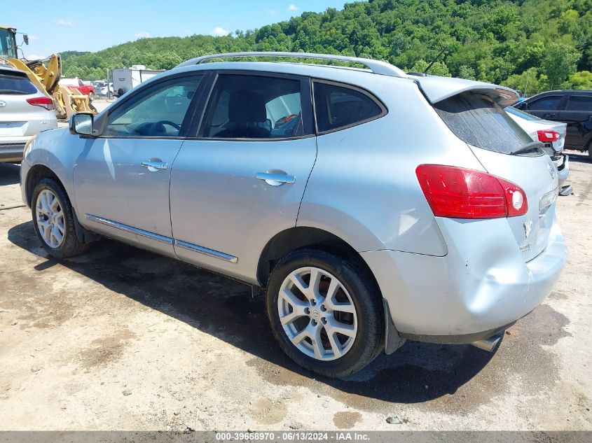
POLYGON ((361 125, 386 113, 385 106, 378 99, 358 88, 320 80, 313 84, 319 134, 361 125))

